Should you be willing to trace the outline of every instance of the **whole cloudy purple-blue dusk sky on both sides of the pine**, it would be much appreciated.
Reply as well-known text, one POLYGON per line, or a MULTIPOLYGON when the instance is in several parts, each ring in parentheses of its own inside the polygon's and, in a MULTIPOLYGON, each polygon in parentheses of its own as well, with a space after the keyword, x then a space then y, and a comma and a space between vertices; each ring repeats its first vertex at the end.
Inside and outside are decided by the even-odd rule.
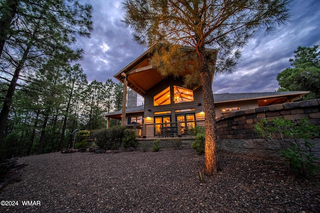
MULTIPOLYGON (((93 32, 74 45, 84 50, 79 63, 88 81, 117 82, 113 75, 146 49, 132 42, 129 28, 121 23, 121 0, 80 0, 93 7, 93 32)), ((232 74, 216 75, 213 93, 273 92, 276 75, 290 67, 298 46, 320 45, 320 0, 293 0, 291 18, 269 34, 261 31, 242 49, 242 59, 232 74)))

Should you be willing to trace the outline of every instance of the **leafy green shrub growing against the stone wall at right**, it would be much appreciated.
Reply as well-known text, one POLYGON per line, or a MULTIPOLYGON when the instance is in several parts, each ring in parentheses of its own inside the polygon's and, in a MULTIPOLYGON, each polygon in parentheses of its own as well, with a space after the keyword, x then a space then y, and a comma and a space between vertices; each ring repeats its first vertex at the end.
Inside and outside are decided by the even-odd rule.
POLYGON ((320 169, 317 165, 319 159, 312 153, 315 144, 309 141, 318 136, 319 128, 306 119, 262 119, 254 126, 254 130, 278 150, 279 155, 283 156, 290 168, 299 175, 308 177, 310 172, 316 174, 320 169))

